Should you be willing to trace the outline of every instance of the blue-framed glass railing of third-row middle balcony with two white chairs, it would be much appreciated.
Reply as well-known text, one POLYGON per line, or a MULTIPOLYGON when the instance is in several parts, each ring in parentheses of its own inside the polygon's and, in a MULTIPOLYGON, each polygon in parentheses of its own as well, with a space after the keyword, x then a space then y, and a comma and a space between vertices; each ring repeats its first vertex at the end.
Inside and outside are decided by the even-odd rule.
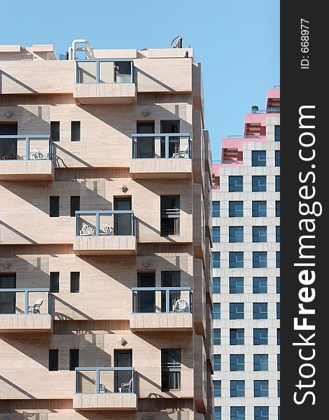
POLYGON ((76 236, 134 236, 132 210, 76 211, 76 236))

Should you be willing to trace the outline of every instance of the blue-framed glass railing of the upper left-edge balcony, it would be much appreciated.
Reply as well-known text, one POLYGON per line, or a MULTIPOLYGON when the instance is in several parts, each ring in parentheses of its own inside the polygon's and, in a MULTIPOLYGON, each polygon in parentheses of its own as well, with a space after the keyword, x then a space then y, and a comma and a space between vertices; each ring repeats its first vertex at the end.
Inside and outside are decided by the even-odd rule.
POLYGON ((52 160, 52 141, 48 134, 0 136, 1 160, 52 160))

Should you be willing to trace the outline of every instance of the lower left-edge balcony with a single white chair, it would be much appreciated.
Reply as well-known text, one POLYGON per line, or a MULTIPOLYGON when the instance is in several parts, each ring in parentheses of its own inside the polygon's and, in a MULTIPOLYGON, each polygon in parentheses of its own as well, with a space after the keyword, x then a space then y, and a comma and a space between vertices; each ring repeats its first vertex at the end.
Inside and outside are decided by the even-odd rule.
POLYGON ((48 288, 0 288, 0 332, 51 332, 48 288))

